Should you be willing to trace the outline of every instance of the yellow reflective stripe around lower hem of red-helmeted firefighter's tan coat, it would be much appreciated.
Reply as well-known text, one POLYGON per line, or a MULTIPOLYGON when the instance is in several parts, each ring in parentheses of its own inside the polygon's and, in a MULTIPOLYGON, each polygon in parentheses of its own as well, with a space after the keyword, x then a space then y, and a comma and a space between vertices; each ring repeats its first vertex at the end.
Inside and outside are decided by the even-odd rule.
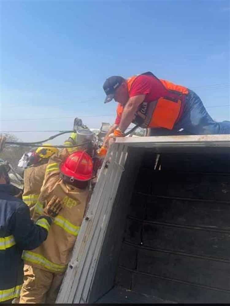
POLYGON ((65 272, 67 268, 67 264, 54 264, 52 261, 46 259, 44 256, 31 251, 24 251, 22 254, 22 259, 30 261, 34 264, 39 264, 52 272, 65 272))

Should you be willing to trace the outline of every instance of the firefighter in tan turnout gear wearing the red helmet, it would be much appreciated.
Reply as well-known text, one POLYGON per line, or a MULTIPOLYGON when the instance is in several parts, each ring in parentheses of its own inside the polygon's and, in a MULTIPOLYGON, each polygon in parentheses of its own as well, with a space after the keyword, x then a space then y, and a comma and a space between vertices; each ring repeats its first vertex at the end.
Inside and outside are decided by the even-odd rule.
POLYGON ((49 159, 33 219, 50 201, 60 202, 63 209, 54 218, 47 240, 23 253, 20 303, 55 303, 85 213, 92 176, 93 162, 84 151, 70 154, 63 149, 49 159))

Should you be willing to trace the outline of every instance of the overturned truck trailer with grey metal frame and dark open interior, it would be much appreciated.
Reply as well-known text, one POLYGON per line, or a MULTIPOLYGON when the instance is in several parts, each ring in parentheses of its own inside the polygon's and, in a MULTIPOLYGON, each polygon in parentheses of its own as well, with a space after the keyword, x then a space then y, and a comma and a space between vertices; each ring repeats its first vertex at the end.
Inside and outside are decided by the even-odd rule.
POLYGON ((56 303, 228 303, 229 246, 230 135, 120 138, 56 303))

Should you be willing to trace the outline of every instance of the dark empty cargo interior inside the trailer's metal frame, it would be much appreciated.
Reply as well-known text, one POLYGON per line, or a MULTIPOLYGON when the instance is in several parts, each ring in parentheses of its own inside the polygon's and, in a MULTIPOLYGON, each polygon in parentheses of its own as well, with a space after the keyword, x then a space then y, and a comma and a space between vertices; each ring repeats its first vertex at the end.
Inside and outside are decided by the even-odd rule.
POLYGON ((229 153, 147 149, 135 180, 126 194, 121 178, 88 302, 229 303, 229 153))

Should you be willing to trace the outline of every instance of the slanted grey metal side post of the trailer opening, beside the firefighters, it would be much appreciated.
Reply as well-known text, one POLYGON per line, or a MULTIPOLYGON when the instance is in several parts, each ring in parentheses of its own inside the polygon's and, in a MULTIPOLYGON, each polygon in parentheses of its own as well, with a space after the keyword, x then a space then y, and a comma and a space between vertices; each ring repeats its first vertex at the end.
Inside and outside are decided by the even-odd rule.
MULTIPOLYGON (((97 256, 94 256, 94 250, 97 248, 99 251, 101 246, 101 244, 98 244, 98 239, 102 243, 102 237, 110 217, 108 213, 106 214, 106 211, 113 206, 126 158, 127 146, 122 144, 111 146, 106 155, 56 303, 73 303, 76 300, 75 292, 76 295, 77 292, 81 292, 85 284, 88 273, 87 267, 92 265, 91 269, 95 269, 97 256), (109 158, 111 158, 109 168, 105 169, 109 158), (107 187, 109 187, 110 193, 103 193, 107 187), (92 257, 95 257, 94 262, 91 260, 92 257)), ((75 301, 75 303, 79 303, 79 301, 75 301)))

